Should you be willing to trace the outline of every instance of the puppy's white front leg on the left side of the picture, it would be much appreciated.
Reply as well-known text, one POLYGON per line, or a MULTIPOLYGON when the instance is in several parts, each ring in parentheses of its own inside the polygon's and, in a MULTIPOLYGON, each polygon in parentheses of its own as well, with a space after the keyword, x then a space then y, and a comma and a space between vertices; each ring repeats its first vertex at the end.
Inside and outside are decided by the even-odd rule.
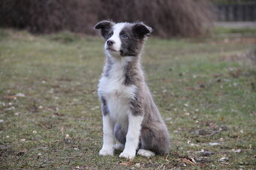
POLYGON ((110 115, 103 115, 103 146, 99 151, 99 155, 114 154, 114 123, 111 121, 110 115))

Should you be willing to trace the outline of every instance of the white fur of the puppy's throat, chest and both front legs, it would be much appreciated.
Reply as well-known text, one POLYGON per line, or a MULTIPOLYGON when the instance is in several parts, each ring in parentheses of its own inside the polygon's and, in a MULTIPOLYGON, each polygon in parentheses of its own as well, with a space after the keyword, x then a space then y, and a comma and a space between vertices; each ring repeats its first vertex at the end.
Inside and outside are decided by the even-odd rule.
POLYGON ((136 95, 136 86, 123 85, 125 79, 124 66, 128 61, 131 61, 133 57, 113 57, 112 55, 109 55, 109 57, 114 63, 109 73, 111 76, 102 76, 99 80, 99 94, 105 97, 110 112, 110 114, 103 116, 103 146, 99 154, 113 155, 113 130, 114 124, 118 123, 124 129, 128 128, 126 144, 120 157, 133 159, 136 156, 136 149, 139 145, 139 136, 143 120, 142 116, 135 116, 130 110, 130 100, 136 95))

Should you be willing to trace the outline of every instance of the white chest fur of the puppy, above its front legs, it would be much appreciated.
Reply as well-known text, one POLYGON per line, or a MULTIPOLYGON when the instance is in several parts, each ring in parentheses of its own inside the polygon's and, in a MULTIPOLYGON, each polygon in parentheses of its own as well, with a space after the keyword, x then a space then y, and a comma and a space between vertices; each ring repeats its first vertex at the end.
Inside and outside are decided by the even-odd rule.
POLYGON ((111 67, 111 76, 99 80, 99 95, 105 98, 112 121, 127 126, 130 102, 135 97, 135 85, 123 85, 125 73, 121 63, 111 67))

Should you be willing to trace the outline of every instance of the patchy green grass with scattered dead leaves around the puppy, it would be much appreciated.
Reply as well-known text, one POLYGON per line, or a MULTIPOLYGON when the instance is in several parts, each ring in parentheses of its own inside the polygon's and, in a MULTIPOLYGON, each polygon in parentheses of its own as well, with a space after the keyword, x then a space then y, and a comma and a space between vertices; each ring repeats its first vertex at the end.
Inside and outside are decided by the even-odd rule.
POLYGON ((1 29, 0 169, 255 169, 255 44, 224 39, 148 40, 142 64, 172 146, 125 160, 98 155, 102 39, 1 29))

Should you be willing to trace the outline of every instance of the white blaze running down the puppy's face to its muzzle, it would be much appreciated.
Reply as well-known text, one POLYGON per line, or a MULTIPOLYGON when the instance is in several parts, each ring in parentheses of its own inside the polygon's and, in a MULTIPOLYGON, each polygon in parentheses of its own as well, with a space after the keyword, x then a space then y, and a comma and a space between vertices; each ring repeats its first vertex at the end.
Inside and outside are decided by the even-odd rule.
MULTIPOLYGON (((120 40, 120 31, 123 30, 123 27, 126 25, 125 22, 117 23, 113 26, 113 35, 108 40, 113 40, 114 44, 111 46, 111 49, 119 52, 121 47, 121 40, 120 40)), ((107 41, 105 42, 105 50, 108 48, 107 41)), ((107 52, 113 52, 111 50, 106 50, 107 52)))

